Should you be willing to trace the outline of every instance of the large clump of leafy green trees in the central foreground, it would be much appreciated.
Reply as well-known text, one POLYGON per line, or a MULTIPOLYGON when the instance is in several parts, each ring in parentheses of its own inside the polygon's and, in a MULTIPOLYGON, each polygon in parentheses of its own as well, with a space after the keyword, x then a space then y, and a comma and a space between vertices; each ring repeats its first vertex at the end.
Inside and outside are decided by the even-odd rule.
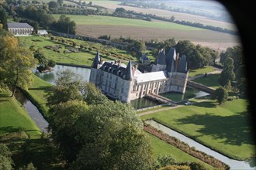
POLYGON ((106 98, 70 70, 47 94, 50 129, 71 169, 150 169, 152 151, 129 104, 106 98))

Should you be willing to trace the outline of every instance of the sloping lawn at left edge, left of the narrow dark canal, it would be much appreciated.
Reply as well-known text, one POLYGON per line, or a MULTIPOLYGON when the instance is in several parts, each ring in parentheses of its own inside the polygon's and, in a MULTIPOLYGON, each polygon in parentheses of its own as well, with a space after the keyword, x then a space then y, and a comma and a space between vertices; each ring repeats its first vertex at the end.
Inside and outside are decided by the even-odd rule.
POLYGON ((38 138, 41 134, 40 128, 16 98, 9 96, 7 91, 0 92, 0 136, 25 131, 30 138, 38 138))

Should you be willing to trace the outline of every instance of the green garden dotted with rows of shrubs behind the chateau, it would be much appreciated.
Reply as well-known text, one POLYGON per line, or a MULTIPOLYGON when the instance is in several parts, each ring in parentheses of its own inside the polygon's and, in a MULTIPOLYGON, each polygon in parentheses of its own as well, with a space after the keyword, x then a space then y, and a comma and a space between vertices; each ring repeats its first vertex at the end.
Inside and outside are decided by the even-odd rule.
POLYGON ((48 59, 54 59, 55 62, 59 63, 91 66, 97 50, 99 50, 100 56, 102 56, 104 60, 120 59, 123 63, 128 63, 129 59, 137 61, 136 58, 126 54, 124 50, 116 49, 112 46, 103 46, 95 42, 85 42, 78 39, 65 39, 60 37, 50 39, 50 37, 43 36, 21 36, 19 40, 27 47, 34 46, 35 49, 42 49, 48 59), (75 46, 73 46, 73 43, 75 43, 75 46), (81 45, 83 46, 82 49, 81 45), (73 50, 74 52, 71 52, 73 50))

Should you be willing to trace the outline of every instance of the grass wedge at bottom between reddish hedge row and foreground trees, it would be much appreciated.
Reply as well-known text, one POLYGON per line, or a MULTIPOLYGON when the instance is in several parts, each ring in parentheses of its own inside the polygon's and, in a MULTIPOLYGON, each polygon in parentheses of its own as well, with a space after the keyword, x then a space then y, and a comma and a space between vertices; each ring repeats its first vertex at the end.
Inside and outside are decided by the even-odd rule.
POLYGON ((214 169, 211 165, 208 165, 205 162, 200 161, 198 158, 195 158, 184 151, 161 141, 161 139, 154 135, 148 134, 148 136, 151 140, 154 158, 157 158, 157 155, 171 155, 171 157, 175 158, 178 162, 200 162, 202 165, 205 165, 207 169, 214 169))

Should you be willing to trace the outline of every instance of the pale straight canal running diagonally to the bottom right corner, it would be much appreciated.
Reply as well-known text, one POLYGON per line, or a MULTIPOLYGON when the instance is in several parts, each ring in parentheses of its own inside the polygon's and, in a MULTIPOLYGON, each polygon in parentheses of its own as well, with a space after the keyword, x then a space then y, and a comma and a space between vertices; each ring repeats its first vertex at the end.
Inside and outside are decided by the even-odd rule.
POLYGON ((190 147, 195 147, 195 149, 199 151, 203 151, 208 155, 212 155, 214 158, 217 158, 221 162, 224 162, 225 164, 229 165, 230 169, 255 169, 255 158, 251 158, 249 162, 237 161, 228 158, 225 155, 221 155, 219 152, 213 151, 212 149, 199 144, 197 141, 194 141, 191 138, 188 138, 185 135, 178 133, 177 131, 173 131, 171 128, 168 128, 162 124, 158 124, 156 121, 148 120, 145 122, 147 124, 150 124, 152 127, 157 128, 157 130, 163 131, 165 134, 178 138, 179 140, 188 144, 190 147))

